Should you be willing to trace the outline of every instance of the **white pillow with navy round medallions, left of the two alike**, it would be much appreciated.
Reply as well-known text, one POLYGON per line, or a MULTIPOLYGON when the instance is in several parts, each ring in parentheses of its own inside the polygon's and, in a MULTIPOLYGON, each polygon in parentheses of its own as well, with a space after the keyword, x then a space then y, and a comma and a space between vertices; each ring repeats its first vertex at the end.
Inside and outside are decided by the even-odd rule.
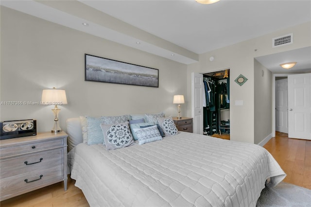
POLYGON ((135 144, 128 121, 117 124, 102 123, 101 128, 104 134, 106 150, 119 149, 135 144))

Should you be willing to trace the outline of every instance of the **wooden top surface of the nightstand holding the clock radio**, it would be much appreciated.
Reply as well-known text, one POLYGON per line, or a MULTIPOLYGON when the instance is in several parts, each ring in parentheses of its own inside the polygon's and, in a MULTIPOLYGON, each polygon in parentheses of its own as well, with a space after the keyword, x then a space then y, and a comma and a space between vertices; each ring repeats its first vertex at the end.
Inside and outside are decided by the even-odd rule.
POLYGON ((2 140, 0 140, 0 145, 1 145, 1 147, 5 147, 7 145, 11 145, 11 144, 14 144, 14 143, 17 143, 17 142, 18 143, 27 143, 27 142, 37 141, 37 140, 62 138, 62 137, 68 137, 66 132, 58 132, 58 133, 39 132, 35 136, 2 139, 2 140))

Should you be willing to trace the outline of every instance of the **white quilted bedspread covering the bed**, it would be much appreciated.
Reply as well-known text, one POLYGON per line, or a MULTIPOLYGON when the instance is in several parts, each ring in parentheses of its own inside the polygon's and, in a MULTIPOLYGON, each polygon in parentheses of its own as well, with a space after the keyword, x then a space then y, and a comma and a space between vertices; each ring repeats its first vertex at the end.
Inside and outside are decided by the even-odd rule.
POLYGON ((255 207, 266 179, 286 176, 258 145, 187 132, 110 151, 81 143, 69 164, 91 207, 255 207))

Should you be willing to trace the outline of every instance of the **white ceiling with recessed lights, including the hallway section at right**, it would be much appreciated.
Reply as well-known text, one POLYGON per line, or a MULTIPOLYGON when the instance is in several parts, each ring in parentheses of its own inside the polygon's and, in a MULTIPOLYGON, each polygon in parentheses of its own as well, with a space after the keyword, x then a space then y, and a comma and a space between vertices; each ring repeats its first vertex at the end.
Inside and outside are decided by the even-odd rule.
MULTIPOLYGON (((198 61, 198 54, 311 21, 310 0, 221 0, 208 5, 195 0, 1 0, 0 4, 185 64, 198 61)), ((300 57, 295 69, 306 70, 311 69, 310 51, 256 59, 278 72, 280 63, 298 62, 300 57)))

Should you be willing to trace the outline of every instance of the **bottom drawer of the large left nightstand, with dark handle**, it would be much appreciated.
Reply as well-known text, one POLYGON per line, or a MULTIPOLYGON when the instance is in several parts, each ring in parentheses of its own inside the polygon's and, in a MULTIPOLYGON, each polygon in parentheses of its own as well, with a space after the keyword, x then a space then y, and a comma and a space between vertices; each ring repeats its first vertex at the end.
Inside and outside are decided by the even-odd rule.
POLYGON ((64 180, 63 167, 61 164, 0 179, 1 200, 64 180))

